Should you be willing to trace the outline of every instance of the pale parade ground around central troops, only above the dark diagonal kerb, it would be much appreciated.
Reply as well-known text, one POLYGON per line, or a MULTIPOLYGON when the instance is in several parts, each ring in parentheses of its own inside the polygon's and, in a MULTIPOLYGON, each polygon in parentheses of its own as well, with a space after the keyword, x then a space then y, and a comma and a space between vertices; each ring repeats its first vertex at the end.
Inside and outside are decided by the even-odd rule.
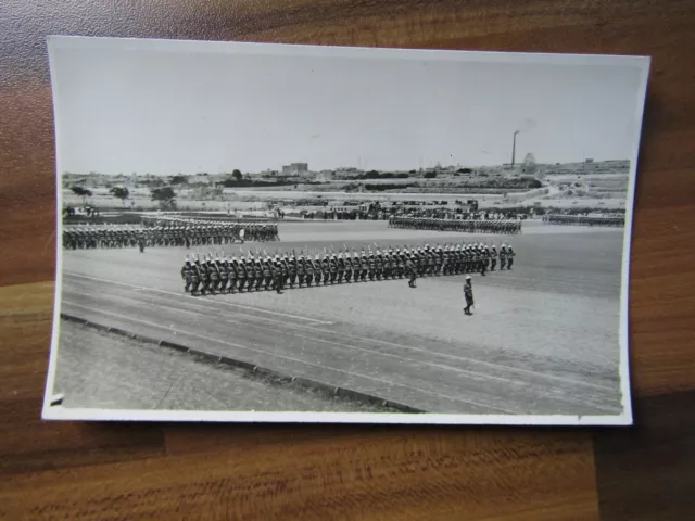
MULTIPOLYGON (((355 230, 380 245, 431 243, 434 233, 288 226, 302 228, 281 237, 305 233, 314 241, 301 247, 321 251, 366 246, 355 230)), ((178 275, 184 249, 67 252, 62 312, 433 412, 619 412, 622 234, 552 228, 511 238, 514 271, 476 277, 473 317, 460 312, 460 276, 421 279, 417 290, 381 281, 190 297, 178 275)))

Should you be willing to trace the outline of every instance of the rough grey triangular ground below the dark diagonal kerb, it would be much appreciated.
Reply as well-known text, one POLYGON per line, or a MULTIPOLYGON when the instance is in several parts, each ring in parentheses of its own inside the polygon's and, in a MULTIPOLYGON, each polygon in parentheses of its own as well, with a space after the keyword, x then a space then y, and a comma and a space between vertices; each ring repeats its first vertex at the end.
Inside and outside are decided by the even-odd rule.
POLYGON ((67 320, 61 335, 55 392, 65 407, 388 412, 67 320))

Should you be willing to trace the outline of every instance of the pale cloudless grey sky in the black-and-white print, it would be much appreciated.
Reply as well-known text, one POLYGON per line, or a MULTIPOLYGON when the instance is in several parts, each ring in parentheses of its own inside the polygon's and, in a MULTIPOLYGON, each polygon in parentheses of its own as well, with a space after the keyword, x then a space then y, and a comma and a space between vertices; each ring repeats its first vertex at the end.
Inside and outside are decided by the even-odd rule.
POLYGON ((63 171, 495 165, 510 161, 515 130, 517 161, 627 160, 640 125, 634 63, 97 47, 51 51, 63 171))

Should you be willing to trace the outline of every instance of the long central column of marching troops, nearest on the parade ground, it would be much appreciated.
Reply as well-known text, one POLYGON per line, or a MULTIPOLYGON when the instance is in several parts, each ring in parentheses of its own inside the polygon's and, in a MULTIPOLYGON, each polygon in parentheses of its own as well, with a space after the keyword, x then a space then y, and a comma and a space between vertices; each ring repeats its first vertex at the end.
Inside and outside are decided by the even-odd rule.
POLYGON ((324 254, 299 255, 279 252, 275 255, 248 252, 228 258, 218 254, 186 256, 181 268, 184 291, 191 295, 217 293, 243 293, 244 291, 277 291, 289 288, 311 288, 355 282, 374 282, 407 277, 415 288, 418 277, 434 277, 459 274, 511 269, 516 256, 511 245, 445 244, 430 247, 415 246, 376 252, 364 249, 361 253, 346 247, 324 254))

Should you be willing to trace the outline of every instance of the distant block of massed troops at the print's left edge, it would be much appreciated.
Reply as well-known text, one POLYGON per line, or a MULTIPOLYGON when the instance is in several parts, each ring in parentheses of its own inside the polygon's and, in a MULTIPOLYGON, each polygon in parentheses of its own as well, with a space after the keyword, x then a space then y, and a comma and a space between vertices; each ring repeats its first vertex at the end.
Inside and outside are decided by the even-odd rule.
POLYGON ((279 240, 278 227, 266 223, 194 223, 186 225, 66 226, 63 228, 63 247, 88 250, 105 247, 146 246, 202 246, 233 244, 245 241, 279 240))

